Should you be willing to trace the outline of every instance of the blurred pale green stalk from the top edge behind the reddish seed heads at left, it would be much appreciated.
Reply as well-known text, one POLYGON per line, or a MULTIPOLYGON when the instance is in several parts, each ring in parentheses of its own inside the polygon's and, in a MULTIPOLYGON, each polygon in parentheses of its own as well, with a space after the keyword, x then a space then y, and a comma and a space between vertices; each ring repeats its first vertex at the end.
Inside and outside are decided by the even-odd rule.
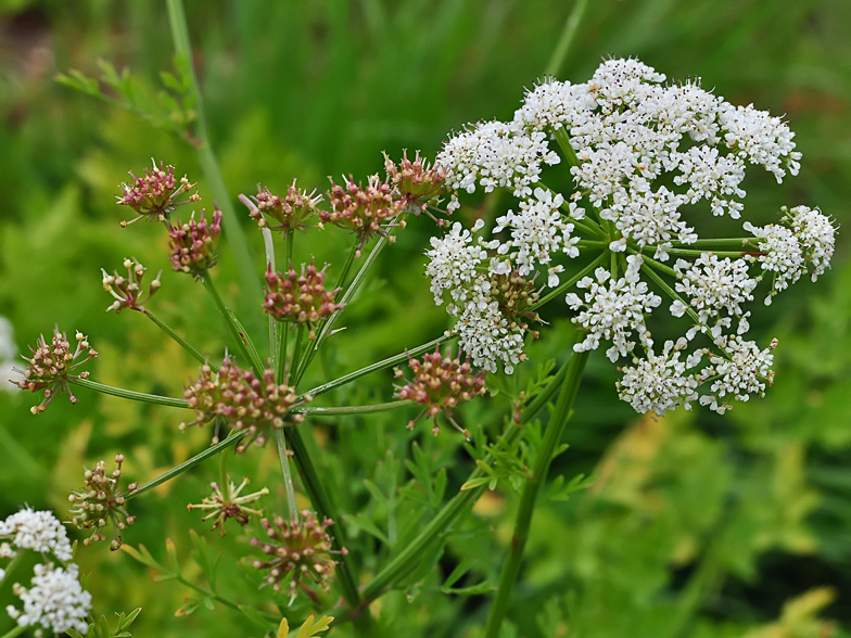
POLYGON ((177 55, 187 60, 191 80, 192 91, 195 94, 195 137, 199 142, 195 145, 198 152, 198 160, 201 168, 204 171, 207 183, 213 191, 213 199, 221 208, 225 215, 225 237, 228 240, 228 245, 233 252, 233 258, 237 261, 237 268, 242 280, 242 290, 251 305, 258 305, 263 298, 263 291, 261 289, 259 280, 254 271, 254 264, 249 251, 249 244, 245 241, 245 234, 242 232, 233 204, 225 187, 225 180, 221 178, 221 170, 218 167, 216 155, 209 144, 209 135, 207 132, 206 115, 204 113, 204 100, 201 94, 201 87, 198 82, 195 67, 192 64, 192 47, 189 41, 189 29, 187 28, 186 13, 183 11, 182 0, 166 0, 168 9, 168 23, 172 27, 172 39, 175 44, 175 52, 177 55))

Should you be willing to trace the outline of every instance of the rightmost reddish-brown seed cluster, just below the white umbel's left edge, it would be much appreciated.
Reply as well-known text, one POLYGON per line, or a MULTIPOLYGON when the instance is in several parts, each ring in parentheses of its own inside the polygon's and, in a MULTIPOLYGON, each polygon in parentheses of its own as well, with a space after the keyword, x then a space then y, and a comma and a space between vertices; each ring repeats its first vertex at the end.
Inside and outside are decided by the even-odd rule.
POLYGON ((408 422, 408 428, 414 429, 420 419, 430 417, 434 421, 432 434, 436 436, 440 432, 437 417, 444 414, 453 428, 470 438, 470 433, 453 419, 452 411, 458 404, 485 393, 484 371, 473 372, 469 359, 461 362, 460 357, 453 359, 449 355, 441 355, 440 346, 434 353, 426 355, 422 361, 409 357, 408 367, 414 372, 414 380, 407 381, 402 370, 396 368, 396 378, 407 381, 407 384, 397 386, 393 395, 423 407, 419 416, 408 422))

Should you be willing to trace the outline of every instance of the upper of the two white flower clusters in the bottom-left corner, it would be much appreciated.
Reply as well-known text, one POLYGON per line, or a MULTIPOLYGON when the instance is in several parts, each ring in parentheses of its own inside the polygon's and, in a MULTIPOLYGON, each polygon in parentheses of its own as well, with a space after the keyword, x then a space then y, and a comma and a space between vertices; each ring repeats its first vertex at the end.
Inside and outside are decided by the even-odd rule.
POLYGON ((52 553, 67 562, 73 558, 65 526, 53 512, 24 508, 0 521, 0 558, 14 558, 16 549, 52 553))

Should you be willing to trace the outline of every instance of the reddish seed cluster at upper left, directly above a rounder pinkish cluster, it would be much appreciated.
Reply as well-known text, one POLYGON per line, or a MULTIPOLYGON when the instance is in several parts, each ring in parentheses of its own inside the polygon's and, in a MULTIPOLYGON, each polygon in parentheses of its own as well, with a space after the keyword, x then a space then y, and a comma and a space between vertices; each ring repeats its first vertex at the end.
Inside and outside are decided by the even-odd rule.
POLYGON ((142 177, 136 177, 132 173, 130 173, 130 177, 132 177, 132 183, 120 186, 123 195, 117 197, 117 204, 129 206, 139 216, 130 221, 122 221, 122 227, 127 227, 139 219, 165 221, 177 206, 201 201, 198 193, 191 193, 186 201, 177 202, 176 200, 181 193, 192 190, 195 184, 190 183, 186 176, 179 180, 175 179, 175 167, 163 168, 162 162, 160 167, 154 162, 152 169, 145 168, 142 177))

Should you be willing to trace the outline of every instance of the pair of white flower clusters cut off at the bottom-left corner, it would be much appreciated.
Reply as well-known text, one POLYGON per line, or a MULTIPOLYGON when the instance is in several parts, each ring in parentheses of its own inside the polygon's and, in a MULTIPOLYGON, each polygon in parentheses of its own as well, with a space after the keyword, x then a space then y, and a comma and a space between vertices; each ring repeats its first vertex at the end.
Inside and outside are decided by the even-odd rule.
MULTIPOLYGON (((0 521, 0 559, 12 559, 22 550, 53 554, 63 563, 73 559, 65 527, 49 511, 25 508, 0 521)), ((0 569, 0 582, 9 576, 0 569)), ((91 595, 79 583, 79 567, 71 563, 54 567, 49 560, 34 567, 30 587, 15 583, 12 591, 23 602, 23 610, 8 605, 7 613, 20 627, 40 625, 56 634, 76 629, 85 634, 91 595)))

